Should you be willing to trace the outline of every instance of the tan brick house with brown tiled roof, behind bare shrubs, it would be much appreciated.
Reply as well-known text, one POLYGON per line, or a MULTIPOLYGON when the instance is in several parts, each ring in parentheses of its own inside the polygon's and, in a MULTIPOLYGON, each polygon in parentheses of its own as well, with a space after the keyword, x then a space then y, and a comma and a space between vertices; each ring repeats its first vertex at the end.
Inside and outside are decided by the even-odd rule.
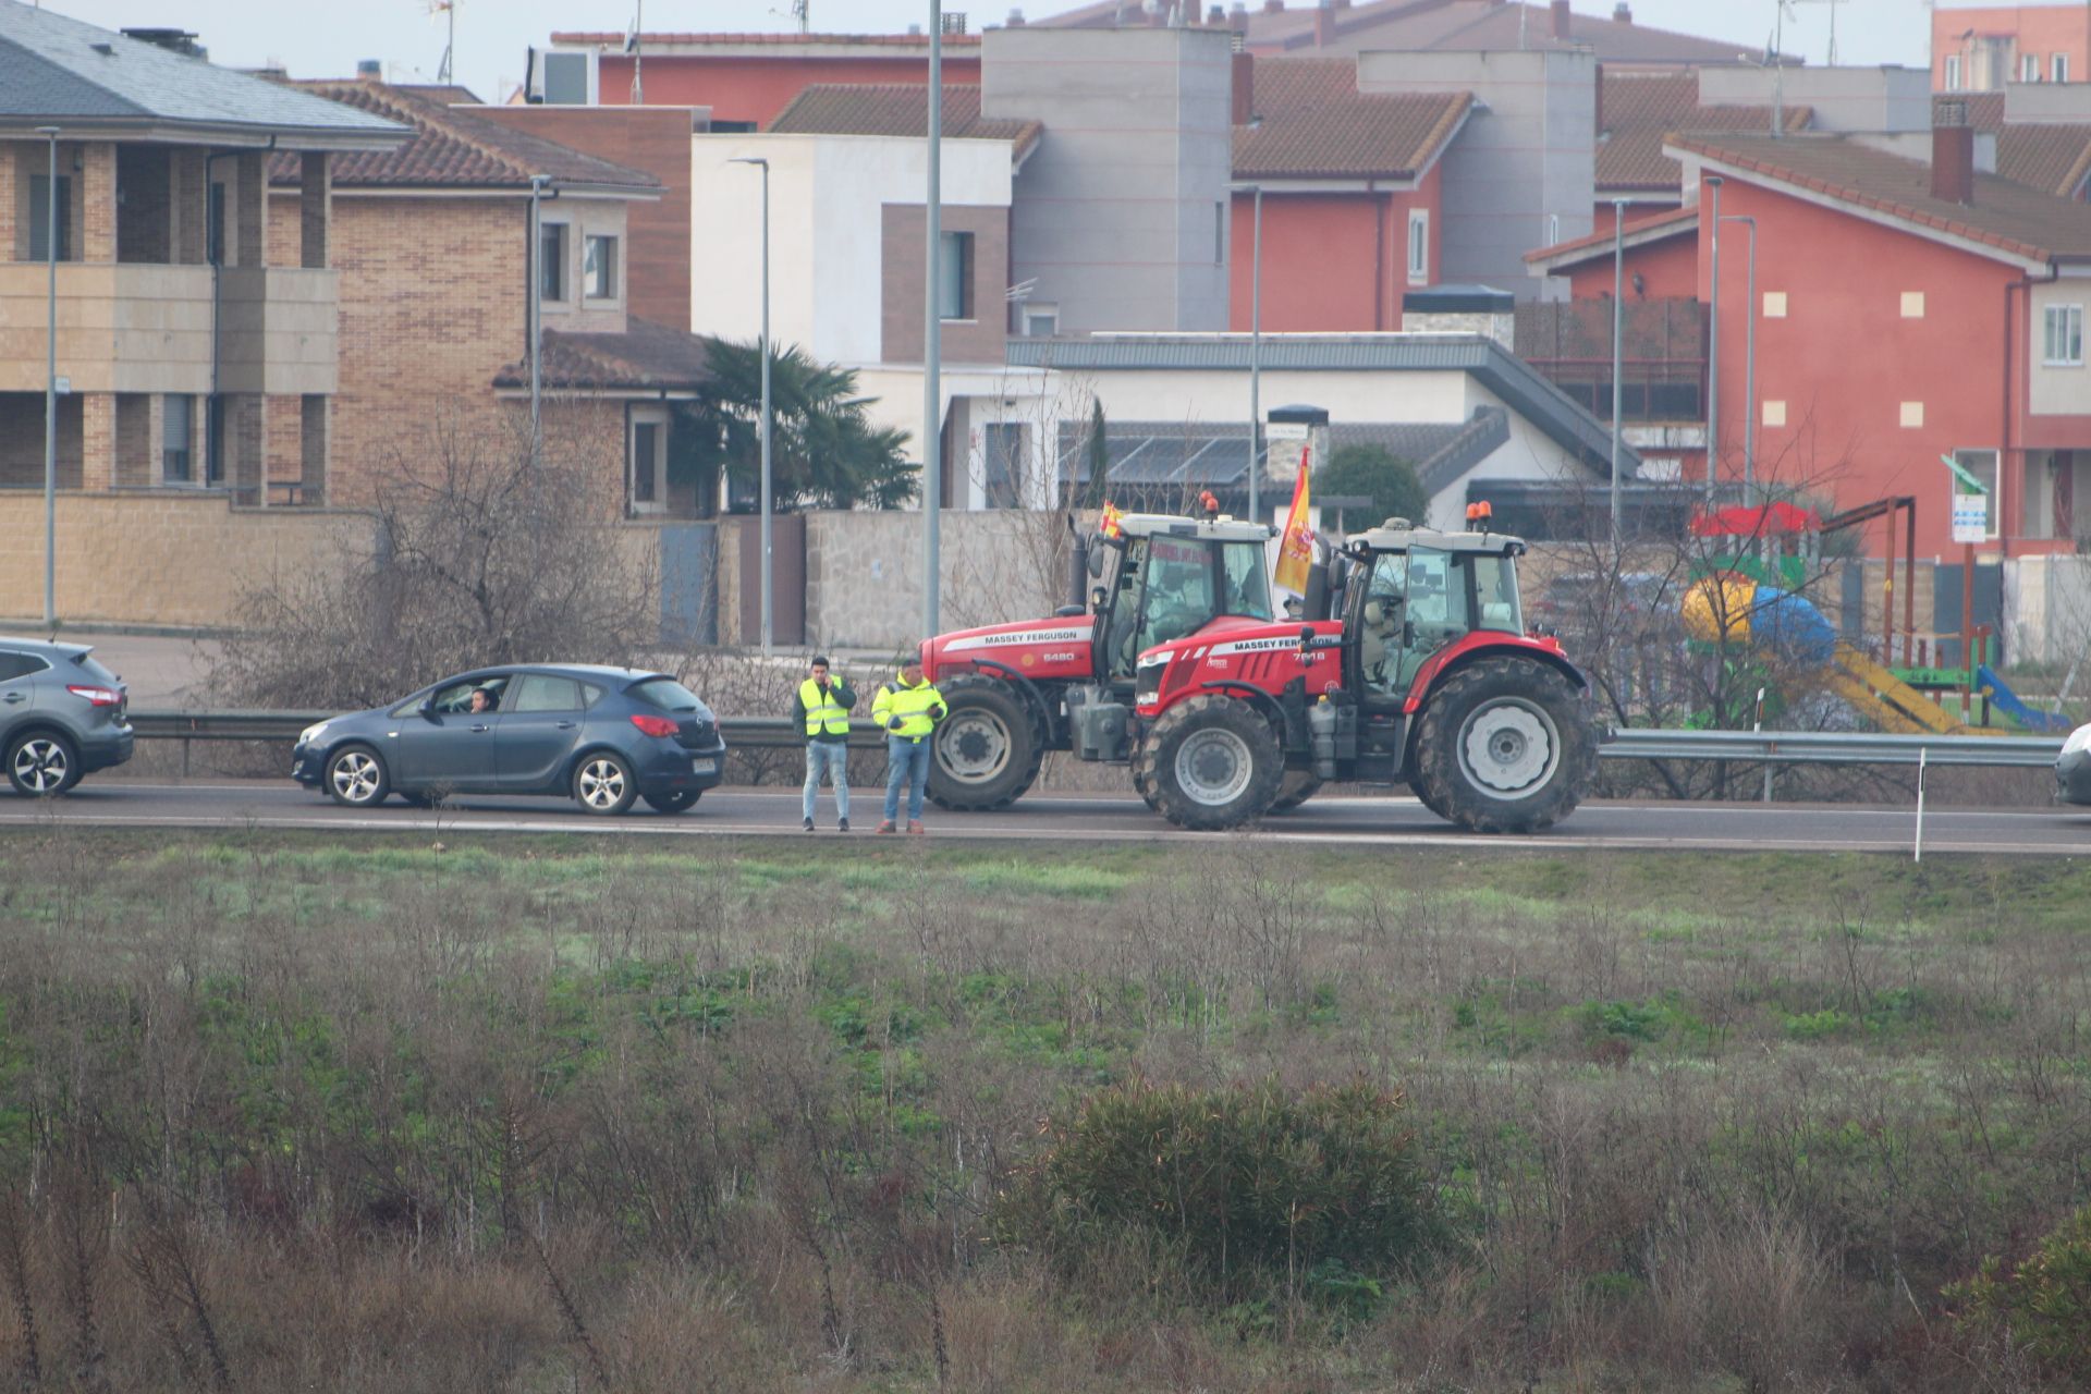
MULTIPOLYGON (((703 341, 631 313, 629 211, 657 201, 661 182, 412 88, 299 88, 412 132, 406 144, 332 171, 341 270, 332 502, 366 504, 389 470, 414 464, 431 426, 485 435, 527 420, 535 276, 546 431, 600 437, 602 456, 621 460, 634 514, 709 510, 711 499, 688 487, 677 495, 667 468, 669 403, 694 397, 709 376, 703 341), (535 257, 533 178, 544 180, 535 257)), ((270 176, 272 217, 282 224, 297 213, 303 171, 276 161, 270 176)))

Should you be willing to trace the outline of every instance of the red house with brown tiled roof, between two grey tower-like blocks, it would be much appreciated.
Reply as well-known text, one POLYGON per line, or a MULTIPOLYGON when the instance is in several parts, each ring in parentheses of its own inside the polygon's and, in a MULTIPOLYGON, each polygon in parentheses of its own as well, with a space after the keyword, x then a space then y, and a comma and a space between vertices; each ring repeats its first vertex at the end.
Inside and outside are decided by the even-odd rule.
MULTIPOLYGON (((1351 59, 1236 69, 1234 178, 1263 188, 1263 328, 1401 328, 1401 295, 1439 280, 1439 157, 1460 136, 1466 92, 1361 94, 1351 59)), ((1255 194, 1236 192, 1227 322, 1250 328, 1255 194)))

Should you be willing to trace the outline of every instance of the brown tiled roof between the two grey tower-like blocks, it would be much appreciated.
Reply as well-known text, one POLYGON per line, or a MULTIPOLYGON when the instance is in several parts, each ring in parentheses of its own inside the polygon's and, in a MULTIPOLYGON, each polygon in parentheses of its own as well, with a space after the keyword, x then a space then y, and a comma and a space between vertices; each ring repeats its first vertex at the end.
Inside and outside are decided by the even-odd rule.
POLYGON ((1234 130, 1234 173, 1276 178, 1416 178, 1445 146, 1468 92, 1361 94, 1353 59, 1267 59, 1255 115, 1234 130))

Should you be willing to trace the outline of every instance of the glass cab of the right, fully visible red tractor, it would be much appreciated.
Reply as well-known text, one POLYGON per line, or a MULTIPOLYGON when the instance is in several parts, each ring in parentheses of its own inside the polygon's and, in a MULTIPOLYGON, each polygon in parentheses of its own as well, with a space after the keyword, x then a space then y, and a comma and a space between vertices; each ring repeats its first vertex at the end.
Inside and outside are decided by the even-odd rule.
POLYGON ((1401 706, 1424 665, 1468 635, 1522 635, 1522 554, 1503 533, 1439 533, 1401 518, 1351 537, 1336 619, 1357 642, 1345 646, 1342 686, 1365 708, 1401 706))

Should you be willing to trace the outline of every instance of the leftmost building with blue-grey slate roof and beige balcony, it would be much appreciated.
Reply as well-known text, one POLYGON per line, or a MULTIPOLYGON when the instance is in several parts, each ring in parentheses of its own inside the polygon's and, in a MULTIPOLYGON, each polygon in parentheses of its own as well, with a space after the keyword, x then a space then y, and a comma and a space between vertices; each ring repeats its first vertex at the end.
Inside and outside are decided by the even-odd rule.
POLYGON ((0 0, 0 487, 44 483, 54 272, 61 489, 316 497, 339 382, 332 161, 408 132, 159 38, 0 0), (307 176, 276 219, 270 148, 307 176))

